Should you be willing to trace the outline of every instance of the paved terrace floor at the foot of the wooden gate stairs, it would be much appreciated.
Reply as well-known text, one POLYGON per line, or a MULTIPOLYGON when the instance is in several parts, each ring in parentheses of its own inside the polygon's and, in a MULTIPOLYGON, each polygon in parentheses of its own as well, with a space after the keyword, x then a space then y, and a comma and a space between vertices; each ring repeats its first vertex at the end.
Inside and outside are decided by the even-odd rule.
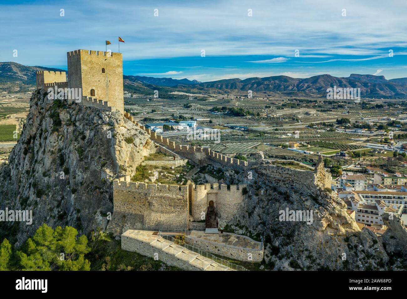
POLYGON ((246 236, 240 236, 231 233, 205 234, 205 231, 191 231, 188 237, 201 239, 207 242, 218 243, 232 247, 262 250, 262 243, 254 241, 246 236))

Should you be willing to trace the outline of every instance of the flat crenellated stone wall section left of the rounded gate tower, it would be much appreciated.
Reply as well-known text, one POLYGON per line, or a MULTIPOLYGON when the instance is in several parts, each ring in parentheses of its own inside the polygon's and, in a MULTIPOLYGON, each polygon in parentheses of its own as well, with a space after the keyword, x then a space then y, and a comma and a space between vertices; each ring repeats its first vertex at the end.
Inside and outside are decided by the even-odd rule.
POLYGON ((109 230, 126 224, 157 225, 162 229, 188 228, 188 186, 113 181, 114 212, 109 230))

